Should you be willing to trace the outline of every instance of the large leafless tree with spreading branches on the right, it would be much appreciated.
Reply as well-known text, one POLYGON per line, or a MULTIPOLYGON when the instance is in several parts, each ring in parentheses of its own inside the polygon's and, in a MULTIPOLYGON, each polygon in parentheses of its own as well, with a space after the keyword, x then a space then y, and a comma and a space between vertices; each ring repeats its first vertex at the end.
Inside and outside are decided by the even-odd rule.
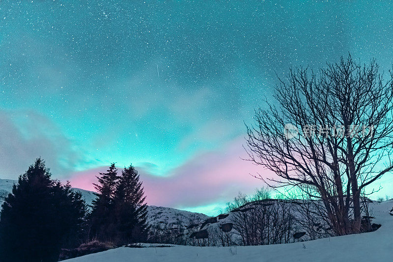
POLYGON ((393 168, 392 79, 350 55, 318 74, 291 70, 278 106, 267 102, 247 127, 250 160, 278 175, 273 186, 308 185, 337 235, 360 231, 362 190, 393 168))

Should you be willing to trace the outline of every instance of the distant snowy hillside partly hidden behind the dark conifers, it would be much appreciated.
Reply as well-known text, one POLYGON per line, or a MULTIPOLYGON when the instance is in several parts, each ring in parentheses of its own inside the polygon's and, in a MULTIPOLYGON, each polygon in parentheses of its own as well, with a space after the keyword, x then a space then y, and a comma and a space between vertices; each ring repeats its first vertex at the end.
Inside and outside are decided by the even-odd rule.
MULTIPOLYGON (((16 180, 0 179, 0 206, 4 202, 4 198, 12 191, 12 186, 17 183, 16 180)), ((87 205, 91 205, 95 195, 92 191, 73 188, 75 191, 82 193, 84 201, 87 205)), ((209 216, 201 213, 194 213, 185 210, 178 210, 165 207, 148 206, 147 207, 147 222, 152 225, 166 225, 169 227, 178 225, 179 223, 183 227, 189 226, 190 221, 201 223, 202 221, 209 218, 209 216)))

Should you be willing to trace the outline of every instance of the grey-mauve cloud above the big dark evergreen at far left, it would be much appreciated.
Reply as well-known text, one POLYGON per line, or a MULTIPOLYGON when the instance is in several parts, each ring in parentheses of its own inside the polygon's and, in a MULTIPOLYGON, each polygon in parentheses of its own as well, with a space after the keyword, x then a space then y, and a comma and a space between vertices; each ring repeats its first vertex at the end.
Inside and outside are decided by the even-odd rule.
POLYGON ((16 179, 42 157, 58 178, 82 159, 49 119, 33 111, 0 110, 0 175, 16 179))

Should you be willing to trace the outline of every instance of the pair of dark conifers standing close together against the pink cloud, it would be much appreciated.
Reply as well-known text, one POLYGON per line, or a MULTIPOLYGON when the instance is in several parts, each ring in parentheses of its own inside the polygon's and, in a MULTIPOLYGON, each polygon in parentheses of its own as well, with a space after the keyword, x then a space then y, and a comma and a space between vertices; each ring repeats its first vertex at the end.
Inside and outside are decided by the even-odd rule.
POLYGON ((147 206, 138 171, 130 165, 117 175, 112 163, 94 184, 90 237, 124 245, 146 239, 147 206))

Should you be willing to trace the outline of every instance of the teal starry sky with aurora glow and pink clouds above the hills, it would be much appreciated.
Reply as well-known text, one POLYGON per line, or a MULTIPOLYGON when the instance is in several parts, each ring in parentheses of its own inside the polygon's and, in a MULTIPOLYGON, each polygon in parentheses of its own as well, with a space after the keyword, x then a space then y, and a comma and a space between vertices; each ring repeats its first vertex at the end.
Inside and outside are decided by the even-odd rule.
POLYGON ((271 175, 241 157, 277 76, 348 52, 389 70, 392 20, 379 1, 0 0, 0 178, 41 156, 92 189, 133 163, 149 205, 215 214, 271 175))

